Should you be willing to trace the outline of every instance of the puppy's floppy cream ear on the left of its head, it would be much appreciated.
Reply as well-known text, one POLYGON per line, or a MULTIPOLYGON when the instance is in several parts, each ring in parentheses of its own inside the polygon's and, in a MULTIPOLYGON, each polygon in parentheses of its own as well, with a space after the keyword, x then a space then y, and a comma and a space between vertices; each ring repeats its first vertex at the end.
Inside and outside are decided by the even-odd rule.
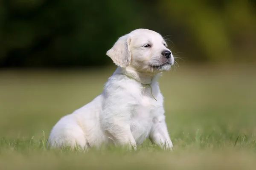
POLYGON ((113 47, 107 51, 107 56, 120 67, 127 67, 131 63, 131 51, 129 45, 131 37, 128 34, 120 37, 113 47))

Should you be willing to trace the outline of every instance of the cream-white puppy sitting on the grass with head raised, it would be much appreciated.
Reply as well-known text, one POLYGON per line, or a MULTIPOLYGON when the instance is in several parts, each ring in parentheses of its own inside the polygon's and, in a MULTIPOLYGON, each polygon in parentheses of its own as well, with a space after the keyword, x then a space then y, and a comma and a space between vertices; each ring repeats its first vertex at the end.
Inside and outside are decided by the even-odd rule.
POLYGON ((62 117, 52 128, 47 146, 87 150, 114 144, 136 150, 149 138, 172 149, 157 82, 174 63, 163 37, 148 29, 131 31, 117 40, 107 56, 118 67, 103 93, 62 117))

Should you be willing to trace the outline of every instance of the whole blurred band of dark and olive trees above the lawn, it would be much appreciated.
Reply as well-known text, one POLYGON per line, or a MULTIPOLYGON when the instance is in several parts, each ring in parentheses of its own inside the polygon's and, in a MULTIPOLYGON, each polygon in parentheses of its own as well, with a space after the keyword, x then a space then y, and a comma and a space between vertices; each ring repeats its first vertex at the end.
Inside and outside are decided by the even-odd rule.
POLYGON ((106 51, 136 28, 166 36, 186 62, 255 62, 255 8, 256 0, 1 0, 0 67, 109 65, 106 51))

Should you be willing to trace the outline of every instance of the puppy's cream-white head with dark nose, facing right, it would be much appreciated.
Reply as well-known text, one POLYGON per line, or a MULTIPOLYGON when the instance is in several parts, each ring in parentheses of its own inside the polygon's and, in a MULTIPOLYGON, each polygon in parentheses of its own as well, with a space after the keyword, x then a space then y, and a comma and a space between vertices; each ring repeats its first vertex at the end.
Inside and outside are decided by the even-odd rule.
POLYGON ((120 37, 107 55, 116 65, 140 72, 168 71, 174 62, 163 37, 148 29, 136 29, 120 37))

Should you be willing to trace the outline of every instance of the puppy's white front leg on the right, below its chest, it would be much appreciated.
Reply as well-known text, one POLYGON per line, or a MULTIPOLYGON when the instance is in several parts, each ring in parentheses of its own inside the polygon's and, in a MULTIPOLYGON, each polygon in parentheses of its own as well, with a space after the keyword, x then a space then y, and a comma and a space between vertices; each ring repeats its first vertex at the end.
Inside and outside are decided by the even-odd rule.
POLYGON ((172 150, 172 141, 170 139, 165 116, 161 115, 153 119, 153 126, 149 134, 149 139, 152 143, 155 143, 166 150, 172 150))

